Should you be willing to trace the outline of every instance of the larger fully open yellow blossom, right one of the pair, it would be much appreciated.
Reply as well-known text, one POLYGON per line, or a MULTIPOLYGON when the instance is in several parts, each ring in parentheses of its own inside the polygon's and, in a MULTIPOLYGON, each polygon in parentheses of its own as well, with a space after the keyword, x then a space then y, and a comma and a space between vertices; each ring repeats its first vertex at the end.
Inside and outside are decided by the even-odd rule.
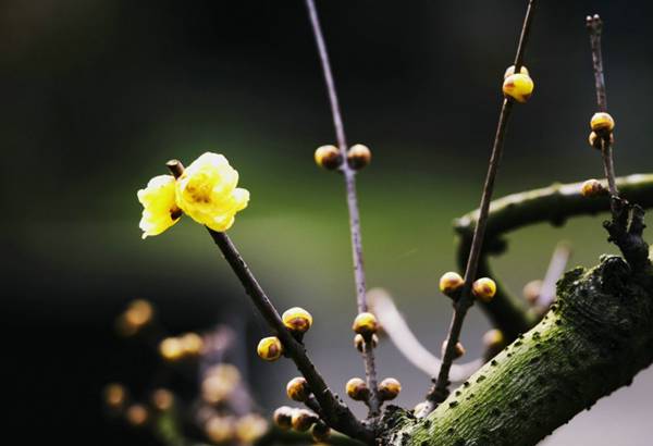
POLYGON ((249 191, 236 187, 238 172, 222 154, 206 152, 176 182, 176 203, 197 223, 224 232, 245 209, 249 191))

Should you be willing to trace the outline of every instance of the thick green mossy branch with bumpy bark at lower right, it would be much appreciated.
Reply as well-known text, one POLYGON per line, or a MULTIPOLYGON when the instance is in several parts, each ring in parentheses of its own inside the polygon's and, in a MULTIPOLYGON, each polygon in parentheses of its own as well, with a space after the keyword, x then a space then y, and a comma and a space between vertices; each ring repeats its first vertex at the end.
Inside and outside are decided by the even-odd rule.
POLYGON ((618 257, 558 284, 543 320, 428 418, 390 408, 383 445, 535 445, 653 362, 653 275, 618 257))

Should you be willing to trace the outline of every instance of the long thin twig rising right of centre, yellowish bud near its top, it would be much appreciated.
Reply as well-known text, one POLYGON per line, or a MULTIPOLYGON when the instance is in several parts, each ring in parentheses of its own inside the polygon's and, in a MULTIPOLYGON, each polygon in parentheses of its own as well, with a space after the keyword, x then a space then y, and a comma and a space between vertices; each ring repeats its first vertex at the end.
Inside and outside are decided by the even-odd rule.
MULTIPOLYGON (((521 28, 521 35, 519 38, 519 45, 517 48, 517 54, 515 57, 515 73, 519 73, 523 63, 523 54, 530 29, 534 16, 537 0, 529 0, 528 9, 526 11, 526 17, 523 20, 523 26, 521 28)), ((427 395, 427 407, 424 412, 433 410, 435 404, 443 401, 448 395, 448 374, 452 367, 452 362, 455 357, 456 344, 460 337, 460 331, 463 330, 463 322, 469 308, 473 305, 473 296, 471 295, 471 284, 477 278, 477 272, 479 267, 479 260, 481 256, 481 248, 483 246, 483 236, 485 234, 485 225, 488 221, 488 213, 490 211, 490 200, 492 199, 492 193, 494 190, 494 181, 498 172, 498 164, 501 162, 501 154, 503 150, 504 137, 510 112, 513 110, 514 102, 512 99, 504 99, 501 114, 498 117, 498 125, 496 129, 496 136, 494 138, 494 146, 492 148, 492 157, 490 158, 490 165, 488 168, 488 176, 483 186, 483 193, 481 196, 481 206, 478 224, 475 228, 475 234, 471 241, 471 249, 469 259, 467 261, 467 268, 465 269, 465 286, 460 298, 454 306, 454 317, 449 326, 447 336, 447 346, 442 359, 442 368, 435 381, 435 384, 427 395)))

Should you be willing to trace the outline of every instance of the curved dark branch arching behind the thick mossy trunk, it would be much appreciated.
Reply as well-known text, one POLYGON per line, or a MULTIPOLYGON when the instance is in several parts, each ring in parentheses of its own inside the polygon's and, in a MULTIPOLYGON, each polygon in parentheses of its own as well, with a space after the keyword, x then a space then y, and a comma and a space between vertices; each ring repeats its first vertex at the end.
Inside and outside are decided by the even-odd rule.
MULTIPOLYGON (((621 196, 639 202, 643 208, 653 207, 653 174, 633 174, 616 178, 621 196)), ((514 296, 498 280, 489 265, 488 256, 504 235, 532 224, 550 222, 560 226, 567 219, 580 215, 595 215, 611 210, 606 196, 587 198, 580 194, 582 183, 554 184, 549 187, 527 190, 492 201, 488 215, 485 248, 479 264, 479 274, 494 278, 496 295, 490 303, 479 302, 492 323, 500 329, 507 340, 514 340, 519 333, 530 330, 538 321, 529 318, 523 300, 514 296)), ((454 222, 458 234, 457 259, 465 267, 479 211, 472 211, 454 222)), ((503 248, 505 248, 505 243, 503 248)))

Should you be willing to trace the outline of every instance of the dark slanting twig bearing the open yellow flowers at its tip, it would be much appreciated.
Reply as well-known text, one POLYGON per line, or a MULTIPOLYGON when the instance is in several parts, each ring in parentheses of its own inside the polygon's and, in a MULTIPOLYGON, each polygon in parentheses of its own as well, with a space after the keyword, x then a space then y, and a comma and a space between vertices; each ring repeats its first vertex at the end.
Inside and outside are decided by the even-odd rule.
MULTIPOLYGON (((184 166, 177 160, 168 162, 168 168, 175 177, 184 172, 184 166)), ((310 388, 320 404, 324 418, 332 428, 364 442, 371 442, 372 433, 364 426, 352 413, 349 408, 343 404, 329 388, 322 375, 318 372, 312 361, 306 354, 306 348, 286 330, 281 315, 272 305, 266 292, 249 270, 247 263, 232 243, 226 233, 220 233, 207 227, 207 231, 220 248, 222 256, 227 261, 243 286, 249 295, 252 303, 263 317, 268 325, 274 331, 287 355, 297 369, 301 372, 310 388)))

